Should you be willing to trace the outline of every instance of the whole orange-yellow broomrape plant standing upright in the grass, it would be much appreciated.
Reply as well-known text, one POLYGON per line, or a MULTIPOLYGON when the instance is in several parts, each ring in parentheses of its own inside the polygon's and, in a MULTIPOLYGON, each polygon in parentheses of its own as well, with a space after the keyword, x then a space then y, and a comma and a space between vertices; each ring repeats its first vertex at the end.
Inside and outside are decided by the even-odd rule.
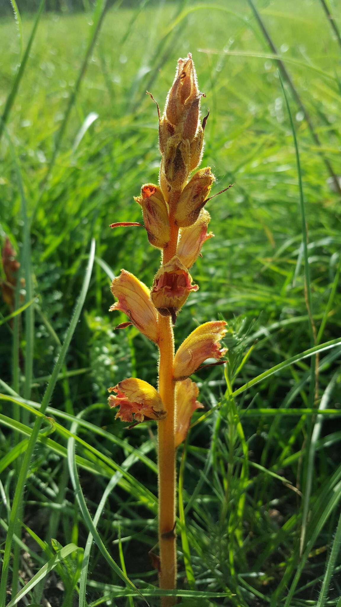
MULTIPOLYGON (((151 96, 151 95, 150 95, 151 96)), ((123 379, 109 388, 110 407, 119 407, 116 418, 127 422, 155 419, 158 422, 158 497, 160 588, 176 587, 175 535, 175 452, 186 438, 191 415, 202 407, 197 401, 197 385, 189 376, 208 358, 220 359, 226 352, 220 341, 226 333, 223 320, 197 327, 174 355, 173 325, 178 312, 198 285, 192 283, 189 268, 201 246, 212 238, 211 219, 204 205, 209 198, 214 175, 211 168, 198 169, 201 162, 204 128, 200 121, 200 93, 192 56, 178 59, 174 82, 159 119, 161 152, 159 185, 146 183, 135 198, 141 206, 144 227, 152 246, 161 249, 161 267, 151 290, 126 270, 112 281, 118 299, 110 310, 129 317, 118 327, 135 325, 154 342, 160 352, 158 391, 137 378, 123 379)), ((113 223, 118 226, 139 223, 113 223)), ((175 599, 163 597, 164 607, 175 599)))

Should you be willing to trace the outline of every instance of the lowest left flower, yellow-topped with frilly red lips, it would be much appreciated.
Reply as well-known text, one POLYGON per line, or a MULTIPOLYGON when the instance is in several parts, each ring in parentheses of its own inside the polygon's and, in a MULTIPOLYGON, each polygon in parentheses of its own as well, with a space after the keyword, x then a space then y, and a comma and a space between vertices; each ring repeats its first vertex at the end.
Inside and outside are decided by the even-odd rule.
POLYGON ((122 421, 136 421, 148 419, 163 419, 166 417, 166 411, 163 409, 160 394, 155 388, 143 381, 143 379, 128 378, 123 379, 108 392, 115 392, 116 395, 110 395, 108 398, 109 407, 120 407, 116 413, 116 419, 122 421))

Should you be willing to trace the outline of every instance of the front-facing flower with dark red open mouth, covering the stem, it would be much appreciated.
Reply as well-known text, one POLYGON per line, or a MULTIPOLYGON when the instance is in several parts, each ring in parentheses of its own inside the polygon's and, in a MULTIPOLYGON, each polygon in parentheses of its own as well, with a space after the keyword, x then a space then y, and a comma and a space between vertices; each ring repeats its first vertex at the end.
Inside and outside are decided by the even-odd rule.
POLYGON ((151 291, 152 302, 160 314, 172 316, 175 322, 177 312, 183 306, 189 293, 197 291, 198 288, 198 285, 192 285, 192 277, 186 266, 177 256, 174 256, 161 266, 155 275, 151 291))

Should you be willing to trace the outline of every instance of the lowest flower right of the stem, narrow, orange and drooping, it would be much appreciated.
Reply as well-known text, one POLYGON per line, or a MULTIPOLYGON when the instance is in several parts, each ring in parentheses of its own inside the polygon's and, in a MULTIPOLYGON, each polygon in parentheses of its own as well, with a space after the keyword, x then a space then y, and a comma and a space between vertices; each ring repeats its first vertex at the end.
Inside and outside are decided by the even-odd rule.
POLYGON ((175 447, 178 447, 186 438, 192 413, 194 413, 195 409, 203 409, 201 402, 197 401, 198 394, 198 386, 191 379, 184 379, 177 383, 177 387, 175 388, 177 402, 175 447))

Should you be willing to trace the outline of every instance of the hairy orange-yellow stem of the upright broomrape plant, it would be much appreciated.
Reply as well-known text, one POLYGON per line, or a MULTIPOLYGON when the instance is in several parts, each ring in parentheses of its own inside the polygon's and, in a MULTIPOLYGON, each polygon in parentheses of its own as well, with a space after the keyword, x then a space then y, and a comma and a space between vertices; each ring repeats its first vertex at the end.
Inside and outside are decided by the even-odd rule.
MULTIPOLYGON (((172 197, 173 205, 177 195, 172 197)), ((170 212, 170 240, 163 252, 167 263, 177 251, 178 228, 170 212)), ((159 327, 159 382, 158 390, 167 415, 158 421, 158 523, 160 548, 160 588, 173 589, 177 585, 177 541, 175 537, 175 382, 173 380, 174 332, 170 316, 158 319, 159 327)), ((162 607, 175 605, 174 597, 163 597, 162 607)))

